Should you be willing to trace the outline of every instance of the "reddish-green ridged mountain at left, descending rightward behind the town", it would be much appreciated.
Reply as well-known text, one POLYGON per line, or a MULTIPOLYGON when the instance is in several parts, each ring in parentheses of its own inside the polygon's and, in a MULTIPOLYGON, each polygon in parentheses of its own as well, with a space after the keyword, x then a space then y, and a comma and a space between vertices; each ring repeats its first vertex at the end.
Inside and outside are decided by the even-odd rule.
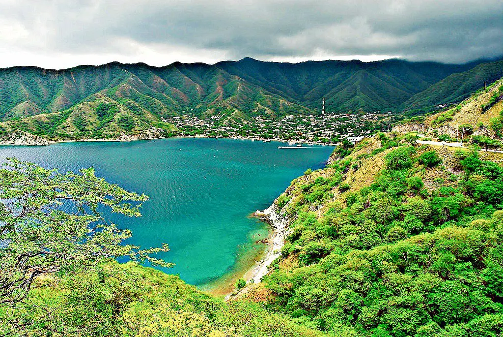
POLYGON ((119 105, 133 102, 159 117, 223 112, 248 118, 308 111, 213 65, 174 63, 156 68, 113 62, 61 71, 35 67, 1 70, 0 118, 59 112, 92 100, 96 94, 119 105))

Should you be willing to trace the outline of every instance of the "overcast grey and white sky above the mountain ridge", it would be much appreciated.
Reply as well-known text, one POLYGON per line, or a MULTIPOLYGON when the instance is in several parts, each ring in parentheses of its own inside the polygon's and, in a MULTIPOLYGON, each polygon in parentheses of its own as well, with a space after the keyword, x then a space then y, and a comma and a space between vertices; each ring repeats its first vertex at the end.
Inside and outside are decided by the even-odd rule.
POLYGON ((502 0, 0 0, 0 67, 503 55, 502 0))

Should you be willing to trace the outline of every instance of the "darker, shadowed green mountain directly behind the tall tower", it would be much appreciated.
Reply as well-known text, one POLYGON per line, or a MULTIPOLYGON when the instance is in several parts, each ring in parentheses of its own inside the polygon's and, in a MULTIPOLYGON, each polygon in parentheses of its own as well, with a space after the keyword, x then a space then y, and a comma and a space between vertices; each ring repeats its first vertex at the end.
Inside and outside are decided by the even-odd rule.
POLYGON ((452 73, 468 70, 476 64, 453 65, 397 59, 292 64, 243 58, 216 65, 310 108, 319 108, 322 98, 326 97, 329 111, 375 111, 396 110, 412 95, 452 73))

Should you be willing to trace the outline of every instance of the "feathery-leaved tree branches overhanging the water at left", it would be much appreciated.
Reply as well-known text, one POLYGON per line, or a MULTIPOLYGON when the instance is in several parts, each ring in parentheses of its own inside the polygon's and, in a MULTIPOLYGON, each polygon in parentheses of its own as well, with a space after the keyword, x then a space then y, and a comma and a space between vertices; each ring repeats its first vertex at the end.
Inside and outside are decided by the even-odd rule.
POLYGON ((61 174, 8 158, 0 169, 0 305, 22 301, 40 275, 94 269, 106 258, 172 266, 149 255, 168 251, 167 245, 123 244, 131 231, 99 211, 140 217, 147 199, 96 177, 93 168, 61 174))

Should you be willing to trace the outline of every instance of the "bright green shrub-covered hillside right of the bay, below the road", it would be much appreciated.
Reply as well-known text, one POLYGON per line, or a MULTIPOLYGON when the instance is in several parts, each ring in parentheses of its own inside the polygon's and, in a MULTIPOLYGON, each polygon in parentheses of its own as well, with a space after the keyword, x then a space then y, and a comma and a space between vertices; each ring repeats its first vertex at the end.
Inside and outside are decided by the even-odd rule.
POLYGON ((295 179, 282 256, 242 297, 335 333, 499 335, 503 155, 413 143, 380 134, 295 179))

